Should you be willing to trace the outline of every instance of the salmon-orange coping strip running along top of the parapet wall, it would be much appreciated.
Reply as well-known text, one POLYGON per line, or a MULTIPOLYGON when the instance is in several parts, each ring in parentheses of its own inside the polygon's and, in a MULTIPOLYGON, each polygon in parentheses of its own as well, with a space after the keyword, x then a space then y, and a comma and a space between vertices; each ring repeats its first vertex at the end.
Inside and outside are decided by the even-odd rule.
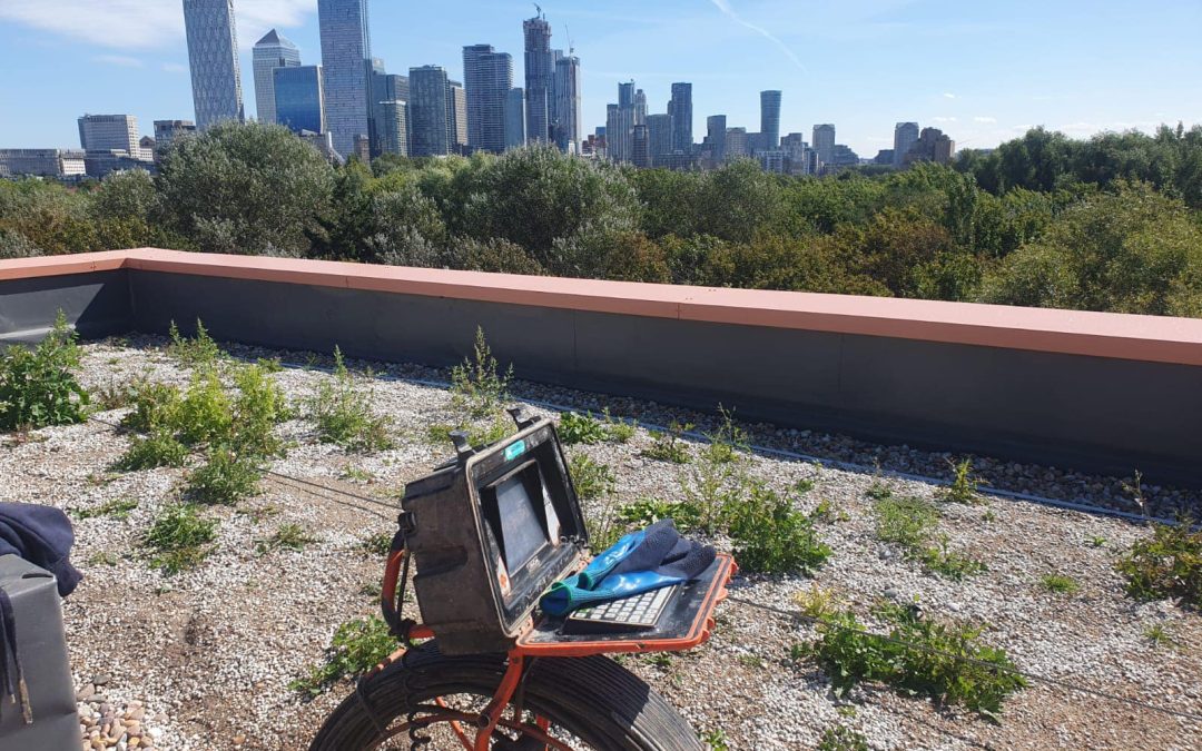
POLYGON ((1202 320, 976 303, 520 276, 155 248, 0 261, 0 280, 119 268, 1202 365, 1202 320))

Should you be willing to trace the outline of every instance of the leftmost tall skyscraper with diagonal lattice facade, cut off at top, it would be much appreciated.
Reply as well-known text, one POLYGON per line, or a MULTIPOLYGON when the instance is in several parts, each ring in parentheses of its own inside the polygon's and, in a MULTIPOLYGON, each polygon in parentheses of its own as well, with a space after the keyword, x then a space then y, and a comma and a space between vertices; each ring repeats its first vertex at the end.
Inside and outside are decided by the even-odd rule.
POLYGON ((184 0, 196 125, 245 119, 233 0, 184 0))

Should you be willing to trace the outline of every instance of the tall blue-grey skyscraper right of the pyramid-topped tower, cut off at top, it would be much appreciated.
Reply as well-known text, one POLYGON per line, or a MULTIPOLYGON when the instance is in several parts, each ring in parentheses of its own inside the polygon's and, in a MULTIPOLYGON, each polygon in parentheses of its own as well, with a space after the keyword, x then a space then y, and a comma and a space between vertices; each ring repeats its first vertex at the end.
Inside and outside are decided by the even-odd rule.
POLYGON ((349 156, 371 126, 371 37, 368 0, 317 0, 326 123, 334 150, 349 156))

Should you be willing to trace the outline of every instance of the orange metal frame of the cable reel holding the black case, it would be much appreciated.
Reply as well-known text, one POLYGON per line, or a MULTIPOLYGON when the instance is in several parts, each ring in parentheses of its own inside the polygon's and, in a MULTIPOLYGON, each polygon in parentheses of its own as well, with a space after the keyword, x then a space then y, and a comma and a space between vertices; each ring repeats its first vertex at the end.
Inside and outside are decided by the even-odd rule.
MULTIPOLYGON (((400 582, 400 571, 404 558, 404 550, 393 550, 388 555, 388 562, 385 566, 381 601, 386 613, 395 613, 397 585, 400 582)), ((683 651, 700 646, 709 639, 709 636, 713 633, 714 608, 718 607, 718 603, 726 600, 726 585, 738 571, 738 565, 730 555, 719 554, 718 560, 720 566, 718 574, 714 577, 709 589, 706 591, 702 606, 697 610, 697 616, 694 619, 694 622, 684 637, 674 639, 615 639, 603 642, 535 644, 523 643, 523 638, 529 636, 529 633, 534 630, 534 620, 530 619, 525 631, 518 637, 517 643, 508 651, 508 664, 505 668, 505 675, 501 677, 501 683, 496 687, 496 692, 484 707, 483 711, 481 711, 478 716, 470 716, 466 713, 462 713, 462 722, 475 722, 475 738, 472 738, 469 731, 464 728, 459 719, 450 720, 451 728, 459 739, 459 743, 463 744, 463 747, 466 751, 488 751, 488 744, 489 739, 493 737, 493 731, 498 727, 505 727, 520 731, 535 740, 541 741, 545 750, 555 749, 557 751, 571 751, 570 746, 555 740, 548 734, 551 723, 547 717, 536 715, 534 725, 523 722, 522 715, 524 713, 520 707, 514 707, 512 720, 505 720, 502 717, 505 708, 513 701, 513 695, 517 692, 518 685, 522 683, 522 675, 526 668, 528 660, 534 657, 588 657, 591 655, 620 652, 683 651)), ((407 637, 410 642, 416 642, 433 639, 435 633, 429 626, 416 624, 410 627, 407 637)), ((407 649, 409 646, 405 645, 394 651, 383 662, 376 666, 376 670, 381 670, 386 666, 399 660, 407 649)), ((454 711, 451 710, 441 698, 436 698, 435 703, 438 703, 439 707, 447 709, 451 714, 454 714, 454 711)))

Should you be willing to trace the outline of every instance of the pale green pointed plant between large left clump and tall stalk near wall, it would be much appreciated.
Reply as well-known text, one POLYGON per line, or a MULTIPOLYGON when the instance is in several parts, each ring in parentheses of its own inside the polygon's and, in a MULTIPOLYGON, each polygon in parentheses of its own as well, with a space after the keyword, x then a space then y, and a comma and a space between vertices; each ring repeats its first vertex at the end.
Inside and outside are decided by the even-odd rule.
POLYGON ((308 400, 309 416, 317 423, 323 443, 338 443, 349 451, 374 452, 392 447, 391 419, 371 411, 368 394, 355 389, 343 352, 334 347, 334 377, 322 379, 308 400))

